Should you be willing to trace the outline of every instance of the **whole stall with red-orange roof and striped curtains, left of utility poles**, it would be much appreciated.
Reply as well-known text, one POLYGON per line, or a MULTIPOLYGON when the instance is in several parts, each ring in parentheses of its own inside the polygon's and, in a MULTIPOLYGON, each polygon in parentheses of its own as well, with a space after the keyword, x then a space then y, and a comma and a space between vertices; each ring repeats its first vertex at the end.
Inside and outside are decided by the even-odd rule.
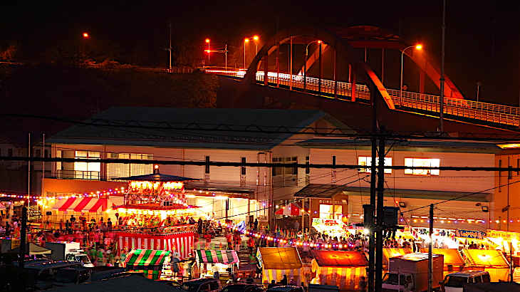
POLYGON ((311 283, 338 286, 340 290, 359 289, 360 277, 366 277, 368 261, 361 251, 312 251, 311 283))

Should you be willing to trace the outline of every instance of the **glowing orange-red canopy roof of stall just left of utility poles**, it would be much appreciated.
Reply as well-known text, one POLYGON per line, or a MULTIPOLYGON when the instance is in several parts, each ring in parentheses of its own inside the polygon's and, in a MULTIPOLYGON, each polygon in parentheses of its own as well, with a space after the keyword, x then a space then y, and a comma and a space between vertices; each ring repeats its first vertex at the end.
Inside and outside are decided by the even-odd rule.
POLYGON ((318 266, 368 266, 361 251, 311 251, 318 266))

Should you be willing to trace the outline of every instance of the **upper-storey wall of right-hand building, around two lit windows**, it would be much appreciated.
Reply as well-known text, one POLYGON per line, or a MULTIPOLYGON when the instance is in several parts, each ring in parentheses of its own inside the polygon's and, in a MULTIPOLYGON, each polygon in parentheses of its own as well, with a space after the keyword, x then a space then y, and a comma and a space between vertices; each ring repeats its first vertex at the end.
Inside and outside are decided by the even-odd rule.
MULTIPOLYGON (((311 149, 311 163, 331 164, 336 156, 337 165, 358 165, 358 157, 370 157, 370 150, 329 150, 311 149)), ((392 165, 404 165, 406 158, 438 158, 441 166, 493 167, 493 154, 452 153, 452 152, 397 152, 390 151, 392 165)), ((358 170, 336 170, 333 182, 331 169, 311 168, 313 184, 348 184, 350 187, 370 187, 370 173, 358 170), (363 179, 363 177, 365 179, 363 179), (359 181, 357 181, 360 179, 359 181), (353 182, 355 181, 355 182, 353 182), (349 184, 349 182, 352 182, 349 184)), ((494 174, 484 171, 441 171, 439 176, 420 176, 405 174, 404 170, 385 173, 385 187, 388 189, 424 189, 432 191, 480 192, 494 187, 494 174)))

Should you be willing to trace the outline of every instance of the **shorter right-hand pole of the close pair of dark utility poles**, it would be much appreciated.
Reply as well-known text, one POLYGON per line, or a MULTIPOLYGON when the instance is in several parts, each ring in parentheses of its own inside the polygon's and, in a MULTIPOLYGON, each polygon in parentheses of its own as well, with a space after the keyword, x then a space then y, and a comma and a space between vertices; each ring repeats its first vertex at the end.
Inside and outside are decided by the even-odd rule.
MULTIPOLYGON (((383 131, 380 129, 380 134, 383 131)), ((383 291, 383 200, 385 192, 385 137, 379 138, 378 161, 378 225, 375 235, 375 291, 383 291)))

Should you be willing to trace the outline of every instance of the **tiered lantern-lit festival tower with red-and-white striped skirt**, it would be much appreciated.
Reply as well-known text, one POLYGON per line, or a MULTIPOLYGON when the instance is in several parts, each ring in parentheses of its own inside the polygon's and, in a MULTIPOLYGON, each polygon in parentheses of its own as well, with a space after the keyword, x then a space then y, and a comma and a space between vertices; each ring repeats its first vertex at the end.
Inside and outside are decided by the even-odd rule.
POLYGON ((187 224, 187 218, 197 207, 187 204, 184 182, 198 179, 160 174, 156 166, 153 174, 117 180, 128 181, 123 205, 114 207, 123 217, 115 232, 119 249, 164 249, 177 251, 181 259, 191 256, 194 224, 187 224))

